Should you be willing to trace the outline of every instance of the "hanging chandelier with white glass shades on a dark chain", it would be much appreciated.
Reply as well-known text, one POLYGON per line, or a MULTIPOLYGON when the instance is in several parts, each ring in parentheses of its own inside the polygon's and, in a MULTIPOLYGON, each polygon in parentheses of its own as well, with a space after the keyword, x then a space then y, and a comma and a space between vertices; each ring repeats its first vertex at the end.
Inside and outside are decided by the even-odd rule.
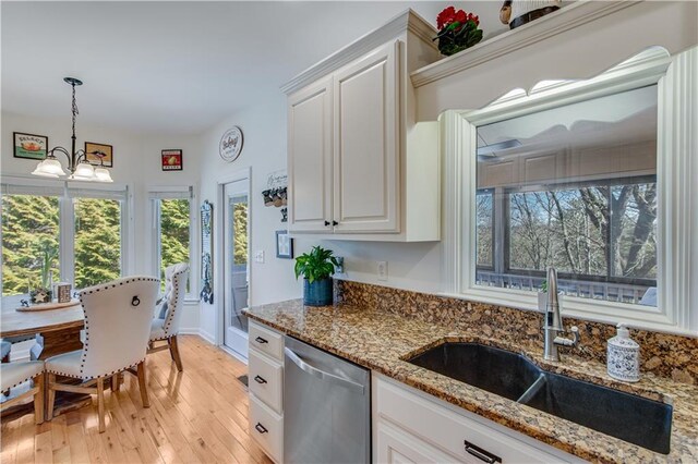
POLYGON ((96 181, 96 182, 113 182, 111 180, 111 174, 104 166, 104 157, 105 152, 95 150, 91 151, 89 155, 94 155, 99 158, 100 164, 95 169, 87 161, 87 152, 85 150, 80 149, 75 151, 75 119, 77 117, 77 103, 75 102, 75 86, 83 85, 83 82, 75 77, 64 77, 68 84, 73 87, 73 136, 72 138, 72 149, 68 151, 63 147, 55 147, 50 149, 46 154, 46 159, 38 163, 36 169, 32 172, 34 175, 43 175, 45 178, 60 178, 63 175, 68 175, 65 171, 63 171, 63 167, 61 162, 56 158, 56 152, 60 152, 65 155, 68 159, 68 170, 70 171, 70 176, 68 178, 71 181, 96 181))

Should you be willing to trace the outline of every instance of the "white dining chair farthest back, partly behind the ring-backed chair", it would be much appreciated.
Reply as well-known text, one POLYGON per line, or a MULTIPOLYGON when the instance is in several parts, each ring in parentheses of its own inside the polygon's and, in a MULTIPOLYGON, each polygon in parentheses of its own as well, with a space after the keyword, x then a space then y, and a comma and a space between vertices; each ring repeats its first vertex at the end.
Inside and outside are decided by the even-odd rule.
POLYGON ((177 370, 182 371, 182 358, 177 344, 177 333, 184 307, 184 294, 186 293, 186 279, 189 278, 189 264, 179 262, 165 269, 165 296, 163 306, 151 325, 151 340, 148 354, 161 350, 170 351, 170 356, 177 365, 177 370), (167 344, 158 342, 166 341, 167 344))

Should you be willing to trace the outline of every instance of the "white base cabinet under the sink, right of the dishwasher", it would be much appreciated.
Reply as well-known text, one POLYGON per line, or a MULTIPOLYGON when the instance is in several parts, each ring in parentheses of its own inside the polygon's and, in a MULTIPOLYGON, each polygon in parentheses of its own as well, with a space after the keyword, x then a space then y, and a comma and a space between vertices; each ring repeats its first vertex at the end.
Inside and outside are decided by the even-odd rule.
POLYGON ((583 462, 375 373, 372 394, 378 463, 583 462))

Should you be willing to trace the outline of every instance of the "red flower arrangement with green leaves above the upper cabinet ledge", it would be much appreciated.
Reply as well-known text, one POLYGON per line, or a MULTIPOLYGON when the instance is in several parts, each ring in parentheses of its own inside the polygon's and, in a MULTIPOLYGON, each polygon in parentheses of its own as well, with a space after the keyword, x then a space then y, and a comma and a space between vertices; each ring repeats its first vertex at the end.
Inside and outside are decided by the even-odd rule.
POLYGON ((480 17, 454 7, 444 9, 436 16, 438 50, 446 56, 457 53, 482 40, 480 17))

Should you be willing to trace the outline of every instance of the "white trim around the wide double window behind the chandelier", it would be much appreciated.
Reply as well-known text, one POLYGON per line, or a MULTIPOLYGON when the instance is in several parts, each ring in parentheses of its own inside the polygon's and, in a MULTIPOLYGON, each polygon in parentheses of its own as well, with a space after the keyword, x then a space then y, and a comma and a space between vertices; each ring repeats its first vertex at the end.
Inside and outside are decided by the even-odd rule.
MULTIPOLYGON (((130 194, 125 184, 92 184, 70 181, 46 181, 22 175, 3 175, 5 187, 24 195, 48 195, 58 197, 59 205, 59 269, 61 281, 75 282, 75 209, 74 198, 104 198, 121 200, 121 276, 129 274, 128 256, 131 230, 130 194), (59 194, 59 191, 61 192, 59 194), (91 195, 91 193, 94 194, 91 195)), ((79 289, 75 289, 79 290, 79 289)))

